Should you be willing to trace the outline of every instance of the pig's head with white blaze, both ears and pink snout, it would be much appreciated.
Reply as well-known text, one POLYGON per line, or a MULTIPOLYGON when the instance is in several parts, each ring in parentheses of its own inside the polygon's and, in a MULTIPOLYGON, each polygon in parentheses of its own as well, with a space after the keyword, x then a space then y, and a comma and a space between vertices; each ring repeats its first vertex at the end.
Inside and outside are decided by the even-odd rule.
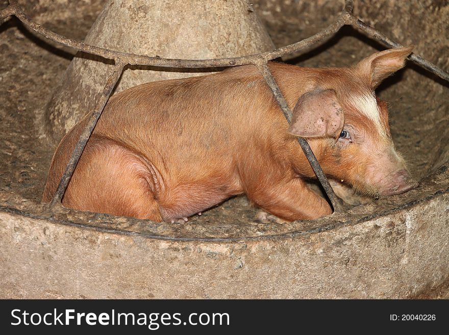
POLYGON ((322 69, 316 87, 293 110, 289 133, 308 140, 325 173, 371 196, 416 185, 394 148, 387 105, 374 93, 404 66, 412 48, 381 51, 352 68, 322 69))

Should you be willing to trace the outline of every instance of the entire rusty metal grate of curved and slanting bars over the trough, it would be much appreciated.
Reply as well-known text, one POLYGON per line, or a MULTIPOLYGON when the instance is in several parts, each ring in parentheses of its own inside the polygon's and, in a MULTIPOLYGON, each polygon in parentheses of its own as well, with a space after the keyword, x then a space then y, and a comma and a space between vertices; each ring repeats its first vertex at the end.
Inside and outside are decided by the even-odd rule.
MULTIPOLYGON (((73 174, 74 169, 77 166, 77 163, 81 157, 81 154, 84 150, 84 147, 89 140, 90 135, 98 121, 99 117, 101 117, 102 112, 108 102, 108 99, 119 80, 121 73, 125 66, 127 65, 151 65, 158 67, 170 67, 170 68, 210 68, 210 67, 230 67, 230 66, 239 66, 246 64, 255 65, 259 71, 261 72, 263 78, 266 83, 270 87, 273 95, 275 96, 278 104, 287 119, 287 122, 290 123, 292 118, 292 113, 287 106, 287 102, 284 99, 275 79, 273 78, 267 62, 269 60, 279 58, 296 51, 308 48, 319 41, 337 33, 343 25, 352 25, 354 28, 358 29, 368 37, 375 39, 381 42, 383 45, 387 47, 401 47, 400 43, 392 41, 387 36, 382 34, 369 27, 369 25, 365 24, 358 17, 353 14, 353 0, 345 0, 344 8, 340 15, 336 18, 336 20, 329 25, 326 29, 321 32, 312 35, 304 40, 299 42, 280 47, 276 50, 269 51, 262 54, 257 55, 248 55, 244 57, 234 57, 234 58, 220 58, 220 59, 206 59, 206 60, 184 60, 184 59, 166 59, 161 58, 159 56, 149 57, 145 55, 136 55, 131 53, 122 53, 120 51, 109 50, 101 47, 96 47, 93 45, 89 45, 83 42, 79 42, 76 40, 68 39, 64 36, 56 34, 48 29, 45 29, 37 22, 33 21, 28 17, 26 13, 24 13, 23 9, 17 3, 17 0, 10 0, 9 6, 0 11, 0 19, 5 19, 8 16, 14 15, 16 16, 24 25, 26 25, 29 29, 34 32, 44 36, 45 38, 57 42, 61 45, 65 45, 71 47, 73 49, 83 51, 84 53, 96 55, 105 59, 114 60, 115 66, 112 74, 109 76, 108 81, 106 82, 105 88, 103 89, 102 95, 97 100, 96 106, 94 108, 93 113, 90 116, 90 119, 84 128, 82 134, 80 135, 79 141, 76 147, 73 150, 71 158, 65 168, 64 174, 61 177, 58 188, 55 192, 55 195, 49 204, 51 210, 56 210, 61 206, 61 199, 64 195, 64 192, 67 188, 67 185, 70 181, 70 178, 73 174)), ((440 78, 449 82, 449 73, 443 71, 438 68, 436 65, 422 59, 421 57, 411 54, 408 57, 409 60, 413 61, 420 67, 438 75, 440 78)), ((340 203, 340 200, 335 195, 326 175, 323 173, 318 161, 316 160, 309 144, 303 138, 298 138, 298 143, 306 154, 307 159, 309 160, 310 165, 312 166, 319 182, 321 183, 323 189, 325 190, 329 200, 332 203, 334 208, 334 217, 337 217, 340 220, 346 221, 346 213, 340 203)))

